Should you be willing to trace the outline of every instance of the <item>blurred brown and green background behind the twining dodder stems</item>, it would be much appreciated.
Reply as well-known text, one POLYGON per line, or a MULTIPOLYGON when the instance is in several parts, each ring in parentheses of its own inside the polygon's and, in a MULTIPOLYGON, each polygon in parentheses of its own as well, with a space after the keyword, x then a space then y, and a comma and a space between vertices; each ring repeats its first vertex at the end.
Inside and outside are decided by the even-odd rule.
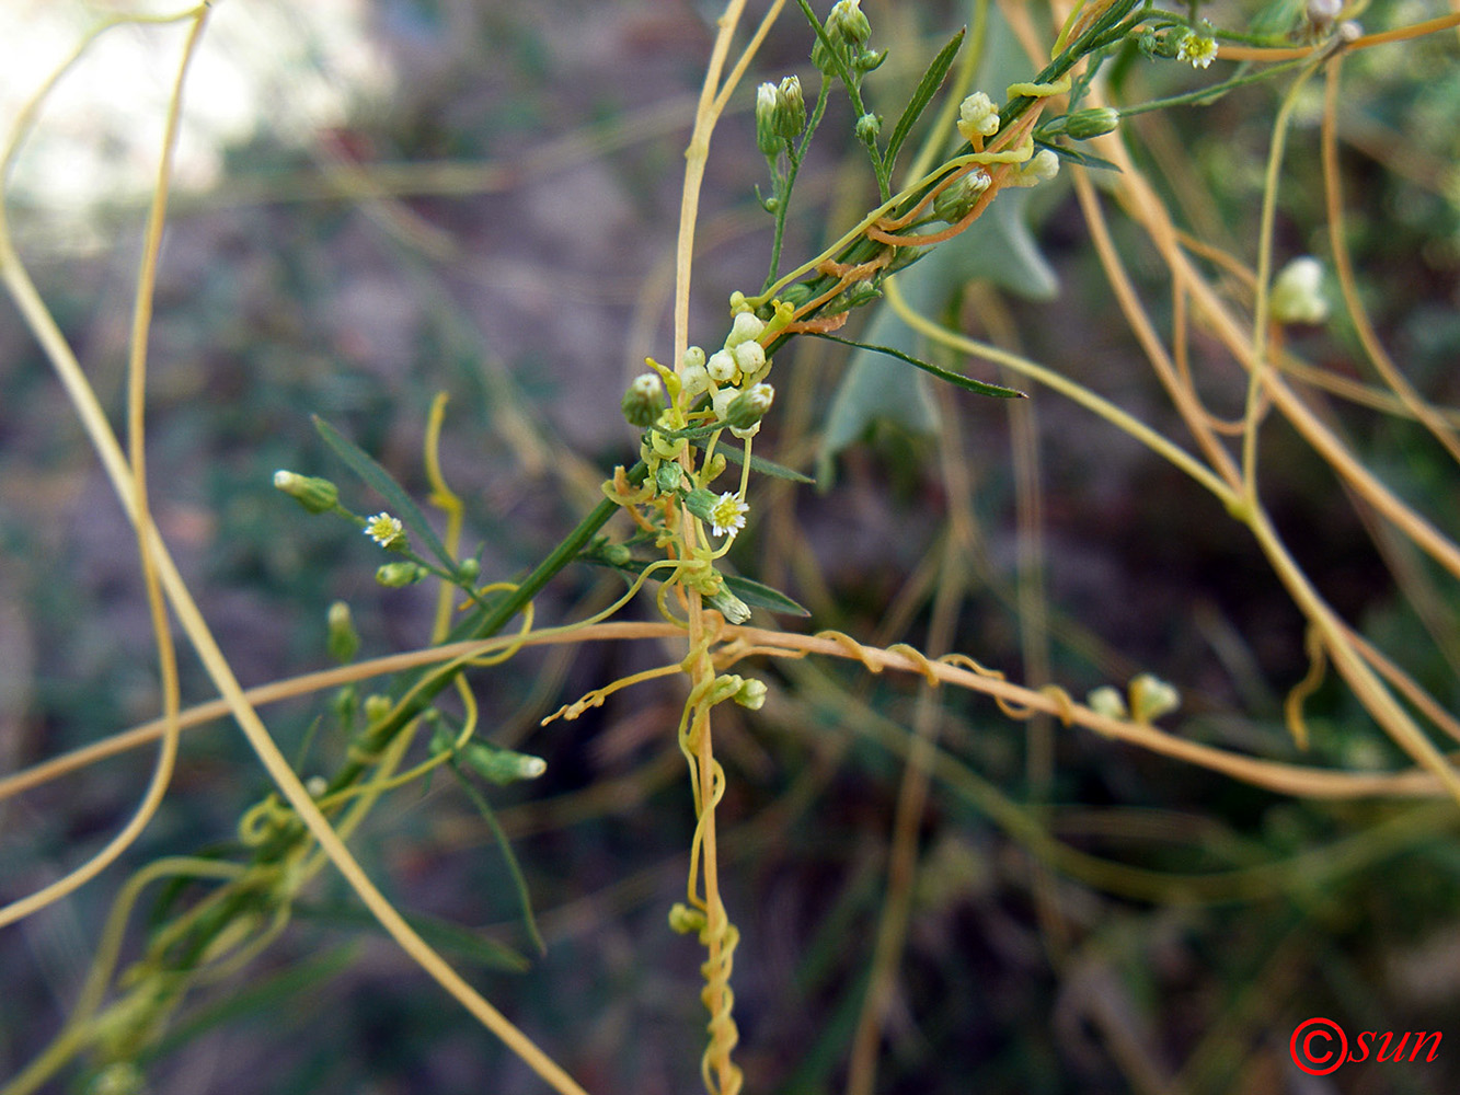
MULTIPOLYGON (((869 95, 895 117, 972 7, 863 6, 873 44, 889 48, 869 95)), ((6 0, 6 127, 98 18, 140 7, 6 0)), ((764 7, 752 3, 750 15, 764 7)), ((1223 4, 1210 18, 1238 26, 1253 10, 1223 4)), ((1377 3, 1364 19, 1378 29, 1442 13, 1377 3)), ((596 502, 612 467, 632 461, 618 403, 645 355, 670 355, 682 153, 717 15, 677 0, 216 4, 185 92, 147 434, 155 518, 245 685, 328 664, 326 609, 336 599, 355 613, 362 656, 429 637, 431 590, 383 590, 368 540, 272 488, 285 467, 334 479, 356 512, 383 507, 320 442, 311 415, 423 502, 426 413, 450 393, 444 470, 466 501, 464 543, 480 545, 488 580, 536 564, 596 502)), ((1012 39, 991 34, 1004 36, 993 39, 990 64, 1012 63, 1007 79, 1018 79, 1026 69, 1012 39)), ((114 422, 182 39, 180 26, 104 35, 47 101, 7 180, 18 248, 114 422)), ((750 105, 758 80, 793 72, 815 93, 810 41, 794 7, 783 15, 715 133, 694 342, 717 346, 730 292, 759 289, 765 276, 771 218, 753 194, 766 169, 750 105)), ((1453 31, 1353 57, 1340 124, 1361 288, 1406 375, 1442 406, 1460 400, 1454 61, 1453 31)), ((1199 79, 1136 58, 1124 92, 1153 98, 1199 79)), ((1318 93, 1292 134, 1283 256, 1326 254, 1318 93)), ((1276 95, 1244 89, 1207 108, 1142 115, 1127 130, 1178 220, 1247 263, 1276 95)), ((797 188, 784 267, 875 200, 850 128, 834 96, 797 188)), ((1009 209, 923 274, 929 307, 1184 442, 1069 188, 1009 209)), ((1165 330, 1167 274, 1114 219, 1165 330)), ((845 333, 886 323, 869 310, 845 333)), ((1364 375, 1343 321, 1296 336, 1294 349, 1364 375)), ((1212 404, 1240 413, 1245 378, 1200 334, 1193 355, 1212 404)), ((952 365, 1016 383, 984 364, 952 365)), ((777 366, 777 409, 758 453, 821 482, 753 488, 755 518, 730 559, 810 610, 778 625, 923 647, 936 566, 948 537, 962 536, 967 593, 950 648, 1076 696, 1153 672, 1181 689, 1184 705, 1167 721, 1193 739, 1318 765, 1402 765, 1332 680, 1307 708, 1311 750, 1294 748, 1282 701, 1307 670, 1301 616, 1244 530, 1146 450, 1047 391, 1031 388, 1029 404, 1010 412, 952 388, 923 397, 892 372, 901 394, 847 394, 854 366, 844 347, 815 340, 777 366), (971 533, 953 529, 953 510, 972 517, 971 533)), ((9 299, 0 393, 0 771, 15 772, 153 718, 161 696, 131 531, 9 299)), ((1314 399, 1371 469, 1460 534, 1454 467, 1438 447, 1403 420, 1314 399)), ((1424 561, 1396 556, 1295 435, 1273 426, 1263 439, 1264 498, 1315 585, 1454 710, 1453 587, 1424 561)), ((539 597, 537 620, 581 618, 620 590, 612 574, 569 568, 539 597)), ((545 955, 530 948, 491 829, 451 780, 397 791, 352 842, 403 911, 467 930, 442 942, 447 956, 593 1092, 699 1085, 701 950, 666 921, 683 899, 694 831, 675 745, 683 689, 645 685, 577 721, 537 723, 677 657, 594 644, 524 651, 472 677, 488 736, 548 761, 540 780, 491 791, 545 955)), ((212 698, 185 651, 182 672, 184 702, 212 698)), ((841 1091, 923 689, 847 664, 755 672, 772 686, 761 712, 717 708, 729 774, 721 885, 742 930, 736 1058, 748 1091, 841 1091)), ((264 712, 291 755, 324 718, 312 745, 321 771, 345 749, 326 708, 318 696, 264 712)), ((1448 1041, 1434 1063, 1352 1064, 1329 1077, 1288 1058, 1295 1025, 1315 1015, 1350 1032, 1460 1040, 1453 809, 1295 802, 1082 731, 1012 721, 950 691, 923 718, 934 720, 945 761, 918 831, 877 1091, 1460 1083, 1460 1048, 1448 1041), (1168 882, 1133 898, 1098 872, 1060 876, 1031 857, 1031 828, 1168 882), (1257 870, 1264 864, 1288 866, 1257 870), (1260 885, 1181 877, 1247 869, 1260 885)), ((0 803, 0 898, 23 896, 99 848, 130 816, 152 762, 136 750, 0 803)), ((64 1022, 127 873, 228 842, 266 790, 232 724, 190 731, 164 810, 126 866, 0 933, 0 1076, 64 1022)), ((333 877, 248 969, 191 999, 146 1064, 156 1092, 542 1089, 333 877)), ((88 1082, 83 1070, 69 1079, 88 1082)))

